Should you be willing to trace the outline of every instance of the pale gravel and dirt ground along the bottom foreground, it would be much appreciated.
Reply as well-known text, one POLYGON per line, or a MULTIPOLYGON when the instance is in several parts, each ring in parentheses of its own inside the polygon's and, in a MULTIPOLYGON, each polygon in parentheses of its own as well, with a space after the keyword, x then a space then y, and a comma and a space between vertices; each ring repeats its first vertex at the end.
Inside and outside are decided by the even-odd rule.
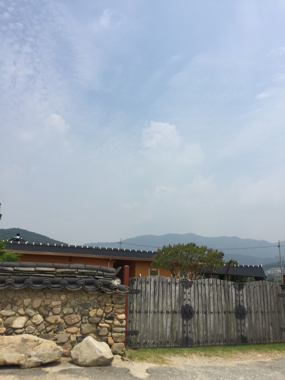
MULTIPOLYGON (((174 358, 173 358, 173 362, 174 358)), ((0 369, 1 380, 133 380, 137 378, 147 380, 172 380, 184 378, 191 380, 200 379, 231 379, 231 380, 284 380, 285 358, 271 358, 266 360, 225 360, 219 359, 218 363, 210 361, 209 365, 198 363, 192 358, 184 359, 171 366, 158 366, 152 363, 139 363, 121 361, 120 357, 114 359, 109 367, 78 367, 71 361, 63 360, 53 364, 45 364, 32 369, 19 369, 17 366, 3 366, 0 369)))

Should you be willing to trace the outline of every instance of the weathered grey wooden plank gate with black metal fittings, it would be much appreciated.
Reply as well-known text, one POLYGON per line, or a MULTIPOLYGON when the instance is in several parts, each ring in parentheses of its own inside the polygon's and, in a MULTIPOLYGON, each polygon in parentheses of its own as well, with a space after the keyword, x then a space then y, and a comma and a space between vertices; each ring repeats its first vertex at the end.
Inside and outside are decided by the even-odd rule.
POLYGON ((130 347, 285 341, 285 285, 163 276, 130 279, 130 347))

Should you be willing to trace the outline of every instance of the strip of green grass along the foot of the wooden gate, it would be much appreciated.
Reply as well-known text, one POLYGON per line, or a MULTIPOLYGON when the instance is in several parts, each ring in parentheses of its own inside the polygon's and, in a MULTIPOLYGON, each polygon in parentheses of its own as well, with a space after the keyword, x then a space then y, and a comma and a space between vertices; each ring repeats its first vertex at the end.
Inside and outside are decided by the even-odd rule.
POLYGON ((246 353, 273 354, 282 352, 285 354, 285 343, 265 343, 265 344, 233 344, 222 346, 203 347, 153 347, 138 348, 127 351, 130 360, 148 361, 151 363, 165 364, 168 356, 192 356, 204 357, 217 356, 220 358, 230 358, 235 355, 246 353))

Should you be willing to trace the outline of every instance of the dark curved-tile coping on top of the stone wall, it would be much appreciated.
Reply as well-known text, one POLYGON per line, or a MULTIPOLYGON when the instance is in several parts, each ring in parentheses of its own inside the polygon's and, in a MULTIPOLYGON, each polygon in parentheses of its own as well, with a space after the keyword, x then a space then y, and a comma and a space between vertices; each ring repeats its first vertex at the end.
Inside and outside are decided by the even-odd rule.
POLYGON ((101 290, 126 294, 128 287, 116 277, 121 268, 99 265, 0 262, 0 289, 101 290))

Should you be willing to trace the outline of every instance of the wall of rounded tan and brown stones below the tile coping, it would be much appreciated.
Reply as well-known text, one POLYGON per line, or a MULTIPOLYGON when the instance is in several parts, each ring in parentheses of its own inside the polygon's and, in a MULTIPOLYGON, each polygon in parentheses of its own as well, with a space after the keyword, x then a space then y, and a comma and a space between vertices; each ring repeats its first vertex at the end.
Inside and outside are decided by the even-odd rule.
POLYGON ((125 296, 117 293, 0 290, 0 336, 32 334, 54 340, 65 356, 86 336, 119 353, 125 325, 125 296))

